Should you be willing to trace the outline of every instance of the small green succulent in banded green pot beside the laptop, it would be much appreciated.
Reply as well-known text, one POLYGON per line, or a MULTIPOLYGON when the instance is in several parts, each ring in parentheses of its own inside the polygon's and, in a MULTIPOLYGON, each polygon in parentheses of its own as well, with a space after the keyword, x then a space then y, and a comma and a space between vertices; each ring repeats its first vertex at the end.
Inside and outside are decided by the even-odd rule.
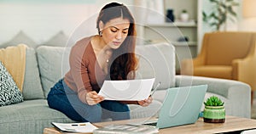
POLYGON ((204 122, 208 123, 224 123, 225 121, 225 109, 224 102, 216 96, 207 98, 204 102, 205 109, 203 114, 204 122))

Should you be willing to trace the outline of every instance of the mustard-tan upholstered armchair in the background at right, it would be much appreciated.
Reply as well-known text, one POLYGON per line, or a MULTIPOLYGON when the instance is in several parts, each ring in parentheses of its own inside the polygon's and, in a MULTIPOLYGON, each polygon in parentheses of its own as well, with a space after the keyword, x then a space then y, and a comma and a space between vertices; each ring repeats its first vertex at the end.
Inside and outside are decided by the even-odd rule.
POLYGON ((212 32, 203 38, 201 53, 184 59, 181 74, 243 81, 256 90, 256 32, 212 32))

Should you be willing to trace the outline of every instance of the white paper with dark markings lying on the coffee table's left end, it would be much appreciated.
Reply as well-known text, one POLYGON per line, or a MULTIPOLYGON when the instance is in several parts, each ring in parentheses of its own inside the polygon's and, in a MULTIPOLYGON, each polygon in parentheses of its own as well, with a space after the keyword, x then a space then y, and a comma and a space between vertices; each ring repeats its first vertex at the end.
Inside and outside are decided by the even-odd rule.
POLYGON ((61 131, 69 131, 69 132, 92 133, 92 131, 97 129, 97 127, 93 126, 90 122, 84 122, 84 123, 52 122, 52 125, 60 129, 61 131))

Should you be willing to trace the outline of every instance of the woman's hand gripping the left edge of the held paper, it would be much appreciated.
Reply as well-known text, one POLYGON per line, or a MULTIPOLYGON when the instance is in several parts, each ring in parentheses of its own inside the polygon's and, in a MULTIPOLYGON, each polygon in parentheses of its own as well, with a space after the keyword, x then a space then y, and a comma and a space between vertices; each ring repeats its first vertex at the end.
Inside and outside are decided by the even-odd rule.
POLYGON ((94 105, 94 104, 97 104, 97 103, 101 103, 104 98, 100 95, 98 95, 97 92, 93 91, 93 92, 87 92, 86 93, 86 102, 89 104, 89 105, 94 105))

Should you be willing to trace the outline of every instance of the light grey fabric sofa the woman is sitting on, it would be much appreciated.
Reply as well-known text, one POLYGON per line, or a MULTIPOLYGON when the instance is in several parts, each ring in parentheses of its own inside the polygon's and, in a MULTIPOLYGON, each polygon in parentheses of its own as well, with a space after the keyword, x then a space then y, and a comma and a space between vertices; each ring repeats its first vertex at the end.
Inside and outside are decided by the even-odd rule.
MULTIPOLYGON (((22 103, 0 107, 0 133, 43 133, 51 122, 73 122, 65 114, 49 109, 46 97, 52 87, 68 70, 68 47, 41 46, 26 48, 26 73, 22 103)), ((226 114, 250 118, 250 92, 247 84, 239 81, 175 75, 175 49, 165 43, 137 46, 139 68, 137 79, 155 77, 161 81, 155 92, 154 103, 148 107, 129 105, 131 118, 157 115, 166 89, 170 87, 208 84, 206 98, 211 95, 225 102, 226 114)), ((203 106, 203 105, 202 105, 203 106)))

